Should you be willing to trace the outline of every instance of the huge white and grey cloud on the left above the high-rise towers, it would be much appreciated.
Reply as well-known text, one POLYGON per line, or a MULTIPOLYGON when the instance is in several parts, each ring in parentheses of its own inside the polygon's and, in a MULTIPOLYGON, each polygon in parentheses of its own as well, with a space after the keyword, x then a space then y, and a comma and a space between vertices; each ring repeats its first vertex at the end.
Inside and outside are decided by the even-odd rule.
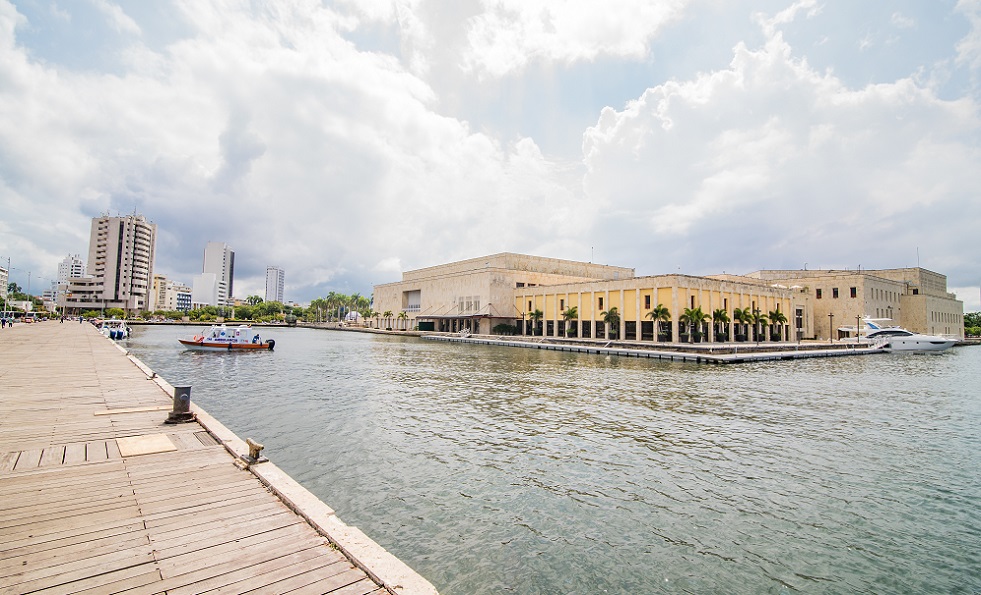
POLYGON ((157 269, 178 280, 224 241, 244 291, 275 262, 295 296, 364 292, 397 278, 393 263, 557 235, 568 220, 552 206, 581 201, 578 170, 439 115, 428 85, 357 51, 319 3, 182 7, 196 29, 119 76, 60 71, 5 37, 3 203, 77 230, 28 230, 54 248, 49 266, 84 252, 88 217, 136 210, 159 226, 157 269))

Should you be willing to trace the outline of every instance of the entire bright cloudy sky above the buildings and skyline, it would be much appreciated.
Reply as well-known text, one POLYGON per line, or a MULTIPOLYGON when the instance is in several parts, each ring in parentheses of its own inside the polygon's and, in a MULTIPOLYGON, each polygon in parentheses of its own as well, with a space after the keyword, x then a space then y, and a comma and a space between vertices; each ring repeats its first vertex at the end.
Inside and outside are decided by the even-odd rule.
POLYGON ((499 252, 922 266, 981 309, 981 0, 0 0, 0 264, 91 219, 236 297, 499 252))

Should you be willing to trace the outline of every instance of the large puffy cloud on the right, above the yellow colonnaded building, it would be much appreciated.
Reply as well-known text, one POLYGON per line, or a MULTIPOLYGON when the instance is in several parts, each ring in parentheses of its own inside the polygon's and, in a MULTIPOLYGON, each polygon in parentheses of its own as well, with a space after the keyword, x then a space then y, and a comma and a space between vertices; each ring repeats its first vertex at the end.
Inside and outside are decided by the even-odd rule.
POLYGON ((905 266, 918 245, 963 244, 981 216, 977 105, 909 78, 850 89, 795 57, 768 28, 781 20, 728 69, 652 87, 586 131, 587 196, 635 240, 621 250, 708 273, 905 266))

